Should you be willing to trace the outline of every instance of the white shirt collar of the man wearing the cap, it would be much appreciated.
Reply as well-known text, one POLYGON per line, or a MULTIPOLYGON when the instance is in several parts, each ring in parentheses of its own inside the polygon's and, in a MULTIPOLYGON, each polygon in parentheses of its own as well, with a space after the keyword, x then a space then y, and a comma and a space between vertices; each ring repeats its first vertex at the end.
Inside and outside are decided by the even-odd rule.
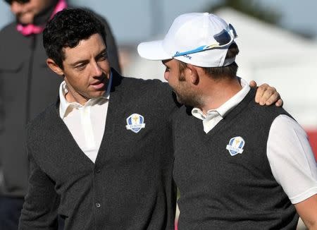
POLYGON ((195 107, 194 109, 192 109, 192 115, 195 116, 197 119, 204 120, 204 119, 208 119, 209 116, 214 116, 213 114, 215 114, 215 112, 218 113, 222 117, 228 114, 228 112, 231 111, 231 109, 233 109, 234 107, 237 106, 237 104, 242 102, 242 100, 244 99, 245 96, 247 96, 250 90, 250 86, 246 80, 243 80, 242 78, 240 78, 240 82, 241 82, 242 89, 239 92, 237 92, 237 94, 235 94, 233 97, 228 99, 227 102, 225 102, 220 107, 218 107, 218 109, 211 109, 207 111, 207 115, 205 115, 203 111, 201 111, 201 109, 195 107))

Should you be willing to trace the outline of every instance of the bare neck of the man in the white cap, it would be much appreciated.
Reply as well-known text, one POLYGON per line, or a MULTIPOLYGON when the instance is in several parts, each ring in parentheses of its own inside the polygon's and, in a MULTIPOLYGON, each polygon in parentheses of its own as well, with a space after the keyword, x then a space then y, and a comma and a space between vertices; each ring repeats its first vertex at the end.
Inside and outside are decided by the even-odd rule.
POLYGON ((217 109, 225 104, 231 97, 237 94, 242 89, 237 78, 213 80, 209 79, 209 84, 204 84, 203 104, 200 109, 207 114, 211 109, 217 109))

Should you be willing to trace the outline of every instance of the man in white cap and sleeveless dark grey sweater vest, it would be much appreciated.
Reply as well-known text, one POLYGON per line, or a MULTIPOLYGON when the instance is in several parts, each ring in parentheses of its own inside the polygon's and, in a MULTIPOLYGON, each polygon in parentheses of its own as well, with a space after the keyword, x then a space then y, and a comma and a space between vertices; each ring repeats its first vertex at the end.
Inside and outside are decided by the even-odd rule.
POLYGON ((173 123, 173 176, 183 229, 317 229, 317 168, 306 133, 279 107, 261 107, 237 78, 232 25, 210 13, 176 18, 161 41, 139 44, 161 60, 185 104, 173 123))

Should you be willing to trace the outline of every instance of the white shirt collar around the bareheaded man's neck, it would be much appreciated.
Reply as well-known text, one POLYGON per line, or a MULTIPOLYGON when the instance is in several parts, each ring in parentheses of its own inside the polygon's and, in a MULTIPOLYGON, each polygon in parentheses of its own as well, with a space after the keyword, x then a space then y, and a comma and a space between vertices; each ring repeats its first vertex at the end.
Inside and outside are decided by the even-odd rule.
POLYGON ((110 78, 109 78, 109 81, 108 81, 108 87, 107 87, 107 90, 104 93, 104 95, 101 96, 101 97, 97 97, 97 98, 91 98, 84 105, 82 105, 82 104, 80 104, 78 102, 68 102, 66 100, 65 96, 68 93, 68 89, 66 87, 65 80, 63 80, 63 82, 59 86, 59 99, 60 99, 59 116, 61 116, 61 118, 63 119, 74 108, 80 108, 80 107, 85 107, 85 106, 94 106, 97 103, 98 104, 106 103, 108 101, 108 99, 110 98, 111 84, 112 84, 112 71, 110 73, 110 78))

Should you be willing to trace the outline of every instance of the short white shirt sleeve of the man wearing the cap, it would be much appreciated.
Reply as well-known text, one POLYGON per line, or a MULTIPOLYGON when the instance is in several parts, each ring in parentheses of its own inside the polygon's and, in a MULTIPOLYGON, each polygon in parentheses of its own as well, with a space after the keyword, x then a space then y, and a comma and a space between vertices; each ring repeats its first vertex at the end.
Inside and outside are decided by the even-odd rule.
POLYGON ((273 176, 292 204, 317 194, 317 164, 303 128, 280 115, 272 123, 267 144, 273 176))

